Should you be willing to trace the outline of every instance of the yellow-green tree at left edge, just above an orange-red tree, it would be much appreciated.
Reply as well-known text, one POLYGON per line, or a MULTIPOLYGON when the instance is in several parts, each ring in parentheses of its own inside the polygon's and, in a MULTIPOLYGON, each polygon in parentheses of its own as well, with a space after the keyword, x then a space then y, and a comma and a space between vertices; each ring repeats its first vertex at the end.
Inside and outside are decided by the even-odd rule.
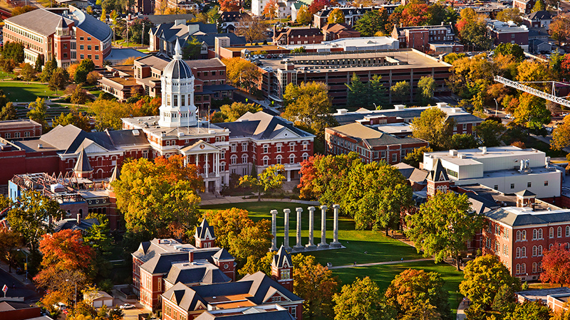
POLYGON ((46 221, 61 217, 59 203, 37 191, 24 191, 18 201, 19 205, 8 211, 10 228, 24 238, 31 251, 36 252, 41 236, 53 230, 53 223, 46 221))

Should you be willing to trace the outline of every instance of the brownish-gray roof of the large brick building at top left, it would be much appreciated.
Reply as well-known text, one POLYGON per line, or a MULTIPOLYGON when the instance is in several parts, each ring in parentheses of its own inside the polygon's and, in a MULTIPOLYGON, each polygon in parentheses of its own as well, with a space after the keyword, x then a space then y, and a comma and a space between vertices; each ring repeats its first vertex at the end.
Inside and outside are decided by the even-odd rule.
MULTIPOLYGON (((73 23, 73 20, 64 18, 67 24, 73 23)), ((7 18, 6 21, 14 23, 18 26, 23 26, 31 31, 42 34, 43 36, 49 36, 56 32, 56 27, 61 21, 61 16, 54 14, 46 9, 36 9, 33 11, 28 11, 25 14, 19 14, 18 16, 13 16, 7 18)))

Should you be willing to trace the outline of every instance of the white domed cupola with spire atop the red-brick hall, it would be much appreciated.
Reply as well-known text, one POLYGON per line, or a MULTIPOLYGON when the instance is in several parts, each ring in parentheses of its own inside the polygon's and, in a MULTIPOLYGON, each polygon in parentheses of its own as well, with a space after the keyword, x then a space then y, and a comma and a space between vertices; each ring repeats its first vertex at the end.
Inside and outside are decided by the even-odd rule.
POLYGON ((194 75, 182 60, 180 43, 176 41, 172 61, 162 71, 162 105, 160 105, 161 127, 191 127, 197 125, 194 105, 194 75))

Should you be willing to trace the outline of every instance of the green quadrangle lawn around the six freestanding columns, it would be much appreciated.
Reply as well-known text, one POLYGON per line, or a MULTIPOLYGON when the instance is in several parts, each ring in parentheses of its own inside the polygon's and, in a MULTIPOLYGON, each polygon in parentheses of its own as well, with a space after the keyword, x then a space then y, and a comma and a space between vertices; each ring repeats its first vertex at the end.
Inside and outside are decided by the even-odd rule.
MULTIPOLYGON (((268 219, 271 220, 270 210, 278 210, 277 215, 277 246, 283 243, 284 237, 284 213, 283 209, 291 209, 289 215, 289 246, 296 244, 296 212, 295 208, 303 208, 302 213, 302 244, 306 245, 309 240, 309 206, 299 203, 280 203, 280 202, 254 202, 254 203, 233 203, 214 206, 202 206, 202 210, 222 210, 227 208, 242 208, 249 211, 249 217, 253 220, 268 219)), ((315 244, 321 242, 321 210, 315 210, 315 244)), ((327 242, 331 242, 333 238, 333 212, 329 210, 326 218, 326 238, 327 242)), ((316 260, 322 265, 331 262, 333 265, 353 265, 369 262, 387 262, 397 260, 413 260, 420 259, 414 247, 410 247, 403 242, 386 237, 383 232, 375 232, 371 230, 354 230, 354 222, 351 218, 342 217, 339 219, 338 240, 346 249, 312 251, 306 253, 314 255, 316 260), (365 253, 366 252, 366 253, 365 253)), ((457 308, 462 297, 457 293, 459 284, 463 279, 463 273, 457 272, 455 267, 447 264, 435 265, 432 261, 410 262, 397 265, 375 265, 371 267, 356 267, 334 269, 333 274, 337 275, 343 284, 354 281, 356 277, 371 277, 378 283, 382 291, 388 288, 390 282, 396 274, 408 268, 423 269, 426 272, 439 272, 445 280, 445 289, 450 293, 450 306, 452 311, 457 308)), ((455 311, 454 311, 455 312, 455 311)))

